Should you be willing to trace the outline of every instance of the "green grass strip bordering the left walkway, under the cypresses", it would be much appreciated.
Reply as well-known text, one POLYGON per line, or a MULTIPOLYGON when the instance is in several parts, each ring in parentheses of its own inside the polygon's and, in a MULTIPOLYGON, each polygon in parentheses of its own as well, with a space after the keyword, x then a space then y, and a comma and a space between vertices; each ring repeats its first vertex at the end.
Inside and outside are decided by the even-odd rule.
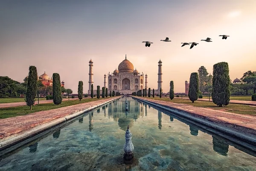
MULTIPOLYGON (((105 97, 104 99, 108 99, 111 97, 105 97)), ((62 101, 60 105, 55 105, 53 103, 44 103, 44 104, 39 104, 39 105, 34 105, 32 106, 32 111, 29 109, 29 106, 17 106, 17 107, 9 107, 9 108, 0 108, 0 119, 4 118, 9 118, 9 117, 17 117, 17 116, 22 116, 26 114, 32 114, 38 111, 47 111, 55 108, 63 108, 67 107, 70 105, 77 105, 80 103, 87 103, 87 102, 92 102, 96 100, 102 100, 103 98, 97 99, 96 97, 93 99, 82 99, 81 101, 79 100, 70 100, 70 101, 62 101)))

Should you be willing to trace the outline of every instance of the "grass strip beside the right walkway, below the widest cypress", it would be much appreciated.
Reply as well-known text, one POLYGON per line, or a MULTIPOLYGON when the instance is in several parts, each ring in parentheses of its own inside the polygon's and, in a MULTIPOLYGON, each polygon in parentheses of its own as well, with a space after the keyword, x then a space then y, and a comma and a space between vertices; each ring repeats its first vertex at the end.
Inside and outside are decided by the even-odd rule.
MULTIPOLYGON (((149 98, 149 97, 147 97, 149 98)), ((256 106, 255 107, 250 107, 249 105, 241 105, 241 104, 232 104, 230 103, 227 106, 224 107, 218 107, 215 105, 213 102, 209 101, 195 101, 192 103, 190 100, 184 100, 184 99, 178 99, 175 98, 173 100, 169 98, 161 98, 160 97, 150 97, 149 99, 154 99, 154 100, 163 100, 163 101, 168 101, 168 102, 173 102, 173 103, 183 103, 187 105, 192 105, 196 107, 201 107, 201 108, 211 108, 214 110, 222 110, 222 111, 227 111, 235 114, 248 114, 248 115, 256 115, 256 106)))

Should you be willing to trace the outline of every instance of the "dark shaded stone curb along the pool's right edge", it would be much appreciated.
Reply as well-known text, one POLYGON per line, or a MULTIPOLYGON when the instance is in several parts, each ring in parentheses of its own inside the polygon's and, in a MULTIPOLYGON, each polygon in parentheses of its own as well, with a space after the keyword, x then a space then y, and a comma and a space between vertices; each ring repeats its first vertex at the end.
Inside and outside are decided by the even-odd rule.
POLYGON ((246 128, 240 125, 235 125, 235 124, 231 124, 227 122, 216 122, 215 120, 211 120, 211 118, 200 118, 198 116, 198 114, 195 114, 193 112, 188 112, 182 109, 178 109, 175 107, 171 107, 171 106, 166 106, 166 105, 162 105, 162 104, 158 104, 155 102, 150 102, 148 100, 145 99, 140 99, 137 97, 133 97, 132 98, 136 99, 136 100, 140 100, 143 101, 145 103, 157 106, 158 108, 163 108, 166 111, 170 111, 172 113, 178 114, 182 117, 188 118, 189 120, 195 121, 196 123, 201 123, 202 125, 206 125, 210 128, 213 128, 215 130, 218 130, 224 134, 228 134, 231 137, 235 137, 239 140, 243 140, 245 142, 248 142, 252 145, 256 145, 256 130, 251 129, 251 128, 246 128), (193 116, 194 115, 194 116, 193 116))

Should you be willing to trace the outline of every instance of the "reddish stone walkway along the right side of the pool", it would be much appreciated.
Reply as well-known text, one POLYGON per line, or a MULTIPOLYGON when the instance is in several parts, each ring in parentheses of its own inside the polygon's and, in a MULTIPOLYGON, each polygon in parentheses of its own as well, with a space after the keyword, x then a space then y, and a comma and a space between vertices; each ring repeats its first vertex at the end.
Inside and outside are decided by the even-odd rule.
POLYGON ((256 131, 256 116, 254 115, 234 114, 226 111, 214 110, 211 108, 200 108, 182 103, 166 102, 164 100, 154 100, 144 97, 136 96, 136 98, 187 111, 191 114, 196 114, 198 117, 204 118, 205 120, 239 125, 245 128, 251 128, 256 131))

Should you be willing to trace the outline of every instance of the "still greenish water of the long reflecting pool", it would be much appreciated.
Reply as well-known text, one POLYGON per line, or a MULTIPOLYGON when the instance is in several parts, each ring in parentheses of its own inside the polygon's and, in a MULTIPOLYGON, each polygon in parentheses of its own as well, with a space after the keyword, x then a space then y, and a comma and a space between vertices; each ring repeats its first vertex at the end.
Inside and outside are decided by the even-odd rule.
POLYGON ((1 171, 252 171, 256 154, 175 114, 128 97, 0 158, 1 171), (122 162, 127 125, 134 163, 122 162))

